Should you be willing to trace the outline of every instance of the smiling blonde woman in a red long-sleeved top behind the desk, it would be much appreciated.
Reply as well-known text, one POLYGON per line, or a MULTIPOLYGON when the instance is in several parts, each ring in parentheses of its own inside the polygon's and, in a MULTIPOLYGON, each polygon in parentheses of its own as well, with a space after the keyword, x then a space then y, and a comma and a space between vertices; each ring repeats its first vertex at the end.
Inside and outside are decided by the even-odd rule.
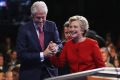
POLYGON ((70 17, 69 27, 72 39, 66 42, 59 56, 51 58, 51 63, 58 67, 68 63, 71 73, 104 67, 97 41, 85 37, 89 28, 87 19, 70 17))

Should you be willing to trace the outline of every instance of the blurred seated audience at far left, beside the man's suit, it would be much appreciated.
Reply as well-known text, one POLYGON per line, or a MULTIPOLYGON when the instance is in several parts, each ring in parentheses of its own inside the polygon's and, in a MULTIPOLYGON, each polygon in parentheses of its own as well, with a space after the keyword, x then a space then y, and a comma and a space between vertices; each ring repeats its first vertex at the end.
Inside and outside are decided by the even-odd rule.
POLYGON ((19 60, 10 37, 0 46, 0 80, 18 80, 19 60))

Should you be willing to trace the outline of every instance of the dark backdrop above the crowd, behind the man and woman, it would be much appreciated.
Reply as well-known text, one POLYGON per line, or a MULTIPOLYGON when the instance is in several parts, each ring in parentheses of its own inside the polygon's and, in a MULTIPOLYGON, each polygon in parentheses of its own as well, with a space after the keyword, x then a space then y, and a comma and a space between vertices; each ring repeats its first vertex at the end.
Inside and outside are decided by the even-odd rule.
MULTIPOLYGON (((18 27, 30 19, 30 6, 36 0, 8 0, 0 8, 0 41, 11 37, 15 41, 18 27)), ((47 19, 56 22, 60 34, 63 24, 73 15, 85 16, 90 29, 113 41, 120 36, 120 0, 43 0, 48 6, 47 19)))

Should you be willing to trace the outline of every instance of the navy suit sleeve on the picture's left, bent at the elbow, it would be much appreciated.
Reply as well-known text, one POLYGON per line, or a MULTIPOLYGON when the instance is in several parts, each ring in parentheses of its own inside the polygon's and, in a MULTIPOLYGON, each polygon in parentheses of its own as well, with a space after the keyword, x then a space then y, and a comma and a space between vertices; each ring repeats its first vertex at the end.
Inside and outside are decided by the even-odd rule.
POLYGON ((22 26, 19 28, 17 41, 16 41, 16 51, 18 58, 21 63, 38 63, 40 62, 40 54, 36 50, 29 49, 29 40, 27 40, 26 28, 22 26))

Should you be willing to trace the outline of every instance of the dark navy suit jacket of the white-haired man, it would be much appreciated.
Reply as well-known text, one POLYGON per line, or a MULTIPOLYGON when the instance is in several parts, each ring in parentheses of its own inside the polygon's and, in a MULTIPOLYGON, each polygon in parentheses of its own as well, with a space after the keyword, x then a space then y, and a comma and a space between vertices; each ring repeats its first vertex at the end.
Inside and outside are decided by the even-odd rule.
MULTIPOLYGON (((46 20, 44 24, 45 48, 50 41, 61 43, 56 24, 46 20)), ((42 48, 33 21, 21 26, 18 30, 16 51, 21 62, 20 80, 42 80, 48 77, 45 65, 50 65, 48 58, 41 62, 40 52, 42 48)))

